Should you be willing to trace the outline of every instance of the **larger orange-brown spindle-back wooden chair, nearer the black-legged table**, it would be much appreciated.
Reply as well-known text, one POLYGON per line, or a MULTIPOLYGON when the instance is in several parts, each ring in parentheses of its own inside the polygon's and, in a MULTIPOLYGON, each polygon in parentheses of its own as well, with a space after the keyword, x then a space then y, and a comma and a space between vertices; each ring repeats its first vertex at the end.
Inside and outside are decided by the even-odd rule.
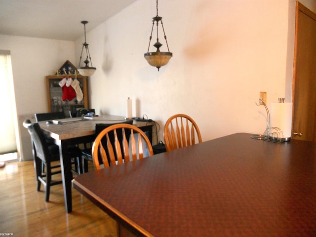
POLYGON ((141 129, 126 123, 111 125, 99 133, 92 145, 94 167, 101 169, 102 163, 104 168, 107 168, 142 159, 146 157, 146 150, 148 150, 148 156, 154 155, 152 144, 141 129))

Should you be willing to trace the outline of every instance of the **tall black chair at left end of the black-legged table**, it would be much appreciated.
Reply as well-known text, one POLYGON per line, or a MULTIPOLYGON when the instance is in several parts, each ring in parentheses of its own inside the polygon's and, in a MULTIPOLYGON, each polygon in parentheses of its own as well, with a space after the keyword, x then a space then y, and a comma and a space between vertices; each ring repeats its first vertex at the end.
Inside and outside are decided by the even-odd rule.
MULTIPOLYGON (((31 136, 34 166, 38 182, 37 190, 40 191, 40 185, 43 184, 45 186, 45 201, 49 201, 50 187, 62 183, 62 180, 52 180, 53 175, 61 173, 60 163, 57 162, 60 160, 59 147, 57 145, 47 144, 39 123, 32 123, 28 119, 23 122, 23 126, 28 129, 31 136), (46 167, 44 172, 42 163, 46 167)), ((70 147, 68 156, 79 158, 81 156, 81 151, 77 147, 70 147)), ((78 170, 78 167, 76 168, 75 163, 75 169, 72 171, 78 174, 76 170, 78 170)))

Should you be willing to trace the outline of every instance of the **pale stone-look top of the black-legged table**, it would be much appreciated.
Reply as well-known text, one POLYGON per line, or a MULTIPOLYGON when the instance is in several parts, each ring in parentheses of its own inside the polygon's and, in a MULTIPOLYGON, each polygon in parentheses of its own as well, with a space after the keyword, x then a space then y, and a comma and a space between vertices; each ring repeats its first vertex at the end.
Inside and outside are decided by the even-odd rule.
MULTIPOLYGON (((96 123, 117 123, 120 121, 125 121, 125 118, 115 115, 103 115, 99 117, 93 117, 91 119, 82 119, 75 121, 67 121, 66 118, 65 122, 61 122, 60 124, 46 124, 46 121, 40 121, 39 124, 41 129, 43 129, 44 132, 48 133, 52 138, 57 140, 65 140, 94 135, 96 123)), ((154 122, 133 121, 133 125, 137 127, 153 124, 154 122)))

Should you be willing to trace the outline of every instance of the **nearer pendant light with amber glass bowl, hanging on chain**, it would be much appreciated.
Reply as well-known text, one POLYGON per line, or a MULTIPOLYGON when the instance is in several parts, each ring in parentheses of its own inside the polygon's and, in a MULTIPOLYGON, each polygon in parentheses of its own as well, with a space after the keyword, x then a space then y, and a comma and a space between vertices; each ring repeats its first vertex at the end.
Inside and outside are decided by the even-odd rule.
POLYGON ((147 50, 147 53, 144 54, 144 57, 151 66, 158 68, 158 71, 159 71, 160 67, 166 65, 169 62, 170 58, 172 57, 172 53, 170 53, 170 51, 169 51, 167 37, 164 33, 163 24, 162 24, 162 20, 161 20, 162 17, 158 16, 158 0, 157 0, 156 9, 157 9, 157 15, 155 17, 153 17, 153 27, 152 27, 152 32, 151 32, 150 38, 149 38, 148 50, 147 50), (150 42, 152 40, 155 22, 156 22, 156 26, 157 26, 157 42, 154 44, 154 46, 157 48, 157 51, 156 52, 149 52, 149 47, 150 47, 150 42), (160 49, 159 49, 162 46, 162 44, 159 42, 159 39, 158 39, 159 22, 161 23, 161 26, 162 26, 162 31, 163 31, 164 39, 166 40, 168 52, 160 52, 160 49))

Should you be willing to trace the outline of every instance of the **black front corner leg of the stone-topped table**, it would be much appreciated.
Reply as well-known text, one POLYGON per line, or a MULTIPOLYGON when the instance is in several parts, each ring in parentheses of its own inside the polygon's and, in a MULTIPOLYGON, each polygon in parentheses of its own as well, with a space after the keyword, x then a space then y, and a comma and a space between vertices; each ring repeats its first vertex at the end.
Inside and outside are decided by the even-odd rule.
POLYGON ((64 141, 58 141, 59 154, 60 154, 60 164, 63 179, 63 189, 64 189, 64 199, 66 212, 72 212, 72 193, 71 193, 71 181, 73 179, 73 174, 71 172, 71 160, 68 157, 68 144, 64 141))

